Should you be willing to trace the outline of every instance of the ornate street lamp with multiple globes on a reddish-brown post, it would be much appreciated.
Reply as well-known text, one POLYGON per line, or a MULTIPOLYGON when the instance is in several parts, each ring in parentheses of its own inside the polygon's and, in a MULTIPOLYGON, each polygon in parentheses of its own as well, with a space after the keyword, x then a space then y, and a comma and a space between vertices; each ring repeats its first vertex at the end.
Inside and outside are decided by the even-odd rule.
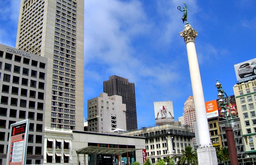
POLYGON ((234 140, 234 135, 233 135, 233 130, 237 130, 237 123, 233 121, 232 114, 230 113, 230 123, 228 121, 228 115, 227 115, 227 110, 230 109, 230 101, 228 98, 228 95, 224 90, 222 89, 222 84, 218 82, 215 84, 216 88, 218 89, 218 103, 221 107, 221 115, 226 116, 226 125, 225 125, 225 132, 226 132, 226 138, 227 138, 227 143, 228 143, 228 148, 229 148, 229 154, 230 154, 230 162, 231 165, 238 165, 238 159, 237 159, 237 151, 236 151, 236 145, 235 145, 235 140, 234 140), (229 105, 229 108, 226 107, 226 103, 224 100, 224 94, 226 95, 227 102, 229 105))

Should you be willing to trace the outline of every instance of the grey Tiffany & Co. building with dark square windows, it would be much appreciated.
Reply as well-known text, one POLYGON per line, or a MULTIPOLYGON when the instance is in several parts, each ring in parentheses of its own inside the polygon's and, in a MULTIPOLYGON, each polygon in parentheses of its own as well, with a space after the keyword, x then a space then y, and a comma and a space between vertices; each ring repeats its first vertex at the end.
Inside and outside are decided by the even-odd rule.
POLYGON ((6 164, 10 125, 30 119, 26 164, 43 163, 47 59, 0 44, 0 161, 6 164))

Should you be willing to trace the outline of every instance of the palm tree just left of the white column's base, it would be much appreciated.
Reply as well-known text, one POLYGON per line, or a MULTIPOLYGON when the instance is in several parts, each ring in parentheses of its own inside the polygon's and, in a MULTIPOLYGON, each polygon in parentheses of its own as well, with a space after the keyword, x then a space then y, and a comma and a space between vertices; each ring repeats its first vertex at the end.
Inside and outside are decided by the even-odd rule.
POLYGON ((172 158, 179 158, 177 161, 177 165, 198 165, 197 161, 197 154, 196 151, 191 146, 186 146, 184 149, 181 150, 181 156, 174 156, 172 158))

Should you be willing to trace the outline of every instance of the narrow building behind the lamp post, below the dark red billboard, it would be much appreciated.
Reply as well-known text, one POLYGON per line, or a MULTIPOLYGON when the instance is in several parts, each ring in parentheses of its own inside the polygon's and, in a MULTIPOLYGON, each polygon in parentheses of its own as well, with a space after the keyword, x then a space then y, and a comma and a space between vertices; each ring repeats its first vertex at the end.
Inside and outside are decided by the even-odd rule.
MULTIPOLYGON (((230 122, 230 119, 228 120, 230 122)), ((242 130, 241 130, 241 122, 240 122, 240 118, 234 118, 233 119, 234 122, 237 123, 237 130, 233 131, 234 134, 234 139, 235 139, 235 145, 236 145, 236 149, 237 149, 237 158, 246 158, 246 154, 245 154, 245 142, 244 142, 244 138, 243 138, 243 134, 242 134, 242 130)), ((221 137, 222 137, 222 147, 227 147, 228 148, 228 143, 227 143, 227 139, 226 139, 226 132, 225 132, 225 128, 226 128, 226 120, 222 120, 219 121, 219 128, 220 128, 220 133, 221 133, 221 137)))

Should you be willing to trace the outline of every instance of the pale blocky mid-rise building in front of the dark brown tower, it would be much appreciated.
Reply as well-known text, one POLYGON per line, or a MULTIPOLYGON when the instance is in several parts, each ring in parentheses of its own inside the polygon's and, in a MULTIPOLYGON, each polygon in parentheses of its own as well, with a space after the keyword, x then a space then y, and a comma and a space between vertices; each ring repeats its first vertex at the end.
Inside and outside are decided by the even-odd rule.
POLYGON ((87 101, 88 130, 102 133, 117 128, 126 130, 125 112, 122 96, 101 93, 99 97, 87 101))

